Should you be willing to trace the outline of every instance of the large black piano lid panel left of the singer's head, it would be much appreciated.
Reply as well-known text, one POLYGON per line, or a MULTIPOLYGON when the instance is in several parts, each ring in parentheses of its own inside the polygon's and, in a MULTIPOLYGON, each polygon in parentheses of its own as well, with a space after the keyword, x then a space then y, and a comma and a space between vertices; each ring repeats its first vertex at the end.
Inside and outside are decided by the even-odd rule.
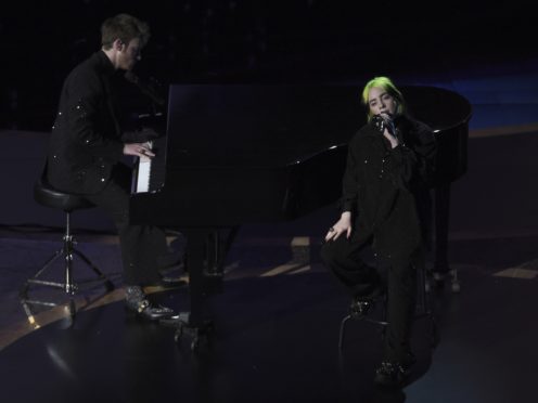
POLYGON ((364 119, 351 86, 172 84, 167 169, 284 167, 347 144, 364 119))

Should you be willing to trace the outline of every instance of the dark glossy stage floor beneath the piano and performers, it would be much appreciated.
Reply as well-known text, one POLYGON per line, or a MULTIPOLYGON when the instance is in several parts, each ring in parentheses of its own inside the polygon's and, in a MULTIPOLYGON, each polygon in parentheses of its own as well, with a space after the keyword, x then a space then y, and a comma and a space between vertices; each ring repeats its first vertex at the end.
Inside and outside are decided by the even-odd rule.
MULTIPOLYGON (((503 253, 515 247, 520 259, 531 259, 537 242, 452 243, 461 292, 431 292, 440 339, 432 349, 428 321, 415 322, 418 364, 401 391, 372 382, 379 327, 350 322, 338 351, 348 299, 319 262, 296 261, 297 269, 281 265, 277 275, 259 265, 238 275, 246 269, 236 264, 222 292, 208 299, 215 329, 195 351, 188 336, 176 342, 174 328, 126 313, 121 300, 81 311, 74 322, 59 314, 0 352, 2 394, 10 402, 534 402, 536 277, 507 271, 503 253), (481 264, 476 256, 488 259, 481 264)), ((249 251, 242 253, 248 260, 249 251)), ((536 276, 536 265, 526 271, 536 276)), ((187 288, 154 296, 188 307, 187 288)))

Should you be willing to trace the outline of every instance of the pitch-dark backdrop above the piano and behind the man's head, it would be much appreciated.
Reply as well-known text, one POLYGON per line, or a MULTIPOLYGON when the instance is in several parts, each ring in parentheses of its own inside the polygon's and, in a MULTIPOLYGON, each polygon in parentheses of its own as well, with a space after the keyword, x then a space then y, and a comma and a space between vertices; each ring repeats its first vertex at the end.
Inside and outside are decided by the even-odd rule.
MULTIPOLYGON (((159 83, 335 82, 488 76, 536 58, 524 1, 16 1, 0 11, 0 129, 48 131, 65 75, 101 22, 146 21, 137 73, 159 83), (511 66, 511 67, 504 67, 511 66)), ((530 64, 530 66, 536 64, 530 64)))

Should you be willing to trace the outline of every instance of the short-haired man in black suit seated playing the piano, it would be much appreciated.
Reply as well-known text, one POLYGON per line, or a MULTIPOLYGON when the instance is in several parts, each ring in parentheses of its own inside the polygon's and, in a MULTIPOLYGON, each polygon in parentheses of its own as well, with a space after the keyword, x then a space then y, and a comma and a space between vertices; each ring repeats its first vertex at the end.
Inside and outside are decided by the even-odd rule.
POLYGON ((64 81, 50 138, 48 179, 56 188, 84 195, 113 219, 119 235, 126 307, 149 320, 174 311, 150 302, 143 286, 159 284, 158 260, 168 253, 163 230, 131 225, 130 168, 125 155, 151 158, 144 143, 126 142, 113 102, 113 75, 131 70, 148 42, 146 23, 118 14, 101 26, 102 48, 76 66, 64 81))

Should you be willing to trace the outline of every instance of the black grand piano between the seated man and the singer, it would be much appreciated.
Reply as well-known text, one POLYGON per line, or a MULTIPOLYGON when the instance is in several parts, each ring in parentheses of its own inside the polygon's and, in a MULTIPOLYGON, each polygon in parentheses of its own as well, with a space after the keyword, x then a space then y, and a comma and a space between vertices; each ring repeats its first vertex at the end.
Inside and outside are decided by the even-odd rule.
MULTIPOLYGON (((440 88, 401 90, 439 141, 435 266, 446 271, 449 190, 466 171, 471 106, 440 88)), ((166 135, 154 142, 149 191, 131 195, 130 220, 185 235, 191 307, 180 322, 194 344, 210 323, 204 298, 236 230, 340 198, 347 143, 366 122, 359 95, 341 84, 170 86, 166 135)))

